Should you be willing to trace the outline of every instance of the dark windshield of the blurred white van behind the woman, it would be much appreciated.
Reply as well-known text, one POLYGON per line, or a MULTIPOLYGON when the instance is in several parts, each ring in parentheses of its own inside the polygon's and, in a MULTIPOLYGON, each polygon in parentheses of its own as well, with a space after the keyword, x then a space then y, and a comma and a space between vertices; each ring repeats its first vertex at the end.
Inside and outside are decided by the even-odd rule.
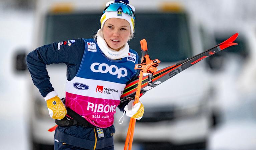
MULTIPOLYGON (((76 38, 93 38, 100 28, 101 13, 49 14, 44 44, 76 38)), ((176 62, 191 57, 188 18, 185 13, 137 13, 135 38, 129 46, 141 55, 140 40, 146 39, 152 59, 176 62)))

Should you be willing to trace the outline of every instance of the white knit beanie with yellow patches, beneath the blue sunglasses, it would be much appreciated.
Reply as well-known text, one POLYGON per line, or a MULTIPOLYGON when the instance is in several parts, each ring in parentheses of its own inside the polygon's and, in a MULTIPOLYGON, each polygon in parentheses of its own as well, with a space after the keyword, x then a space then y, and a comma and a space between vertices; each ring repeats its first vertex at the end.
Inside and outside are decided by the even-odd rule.
MULTIPOLYGON (((135 8, 134 6, 130 5, 129 4, 129 1, 128 0, 123 0, 123 1, 118 1, 118 0, 115 0, 115 1, 110 1, 110 2, 107 2, 106 3, 106 7, 112 3, 116 3, 116 2, 120 2, 120 3, 124 3, 128 6, 130 6, 133 11, 135 12, 135 8)), ((121 12, 121 15, 117 13, 120 13, 118 11, 106 11, 104 14, 102 14, 101 18, 100 18, 100 25, 101 25, 101 29, 103 28, 103 25, 105 23, 105 21, 109 18, 119 18, 119 19, 125 19, 129 22, 130 26, 131 26, 131 32, 132 34, 134 33, 134 25, 135 25, 135 20, 132 16, 130 15, 127 15, 126 13, 123 13, 121 12)))

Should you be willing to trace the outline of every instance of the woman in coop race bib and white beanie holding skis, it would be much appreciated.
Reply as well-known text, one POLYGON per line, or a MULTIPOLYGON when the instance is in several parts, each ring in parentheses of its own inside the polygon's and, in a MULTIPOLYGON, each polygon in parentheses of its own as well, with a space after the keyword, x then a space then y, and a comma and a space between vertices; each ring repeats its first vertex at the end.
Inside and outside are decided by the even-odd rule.
POLYGON ((128 1, 110 1, 94 39, 53 43, 28 54, 28 69, 47 103, 50 116, 61 122, 68 118, 68 107, 88 122, 87 125, 58 126, 54 149, 112 150, 115 108, 118 106, 121 111, 125 108, 127 116, 142 117, 141 102, 132 108, 133 101, 119 105, 126 82, 138 75, 134 67, 140 63, 137 52, 127 43, 134 33, 134 11, 128 1), (53 63, 67 65, 66 107, 49 81, 46 65, 53 63))

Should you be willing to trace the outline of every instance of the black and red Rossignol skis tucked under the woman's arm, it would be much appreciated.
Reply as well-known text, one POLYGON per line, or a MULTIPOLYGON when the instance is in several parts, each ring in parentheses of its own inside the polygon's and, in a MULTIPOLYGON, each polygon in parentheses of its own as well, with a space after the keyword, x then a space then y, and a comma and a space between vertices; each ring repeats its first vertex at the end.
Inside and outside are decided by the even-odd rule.
MULTIPOLYGON (((237 43, 233 43, 238 36, 238 33, 234 34, 230 38, 228 38, 226 41, 222 42, 221 44, 216 45, 215 47, 202 52, 196 56, 193 56, 191 58, 188 58, 186 60, 183 60, 181 62, 178 62, 175 65, 166 67, 164 69, 161 69, 154 74, 146 75, 142 78, 142 83, 140 85, 141 95, 144 94, 146 91, 158 86, 160 83, 168 80, 169 78, 173 77, 174 75, 179 74, 180 72, 184 71, 185 69, 195 65, 196 63, 202 61, 203 59, 214 55, 215 53, 218 53, 230 46, 237 45, 237 43)), ((134 79, 133 81, 126 84, 123 94, 120 97, 121 103, 126 100, 134 99, 135 92, 138 86, 139 79, 134 79)), ((139 87, 139 86, 138 86, 139 87)))

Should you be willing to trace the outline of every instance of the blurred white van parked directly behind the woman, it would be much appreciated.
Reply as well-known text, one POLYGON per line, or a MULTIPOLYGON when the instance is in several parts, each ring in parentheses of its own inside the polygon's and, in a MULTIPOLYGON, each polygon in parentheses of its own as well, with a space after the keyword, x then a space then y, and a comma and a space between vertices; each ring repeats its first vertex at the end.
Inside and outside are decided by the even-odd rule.
MULTIPOLYGON (((135 39, 130 48, 141 55, 140 40, 146 38, 152 59, 162 63, 159 69, 175 64, 201 53, 203 49, 199 22, 178 3, 159 1, 130 1, 136 8, 135 39)), ((33 49, 53 42, 93 38, 100 28, 99 19, 105 3, 94 1, 84 3, 78 0, 38 0, 34 29, 33 49)), ((204 30, 204 28, 201 28, 204 30)), ((207 33, 207 30, 203 32, 207 33)), ((213 41, 208 43, 213 43, 213 41)), ((211 47, 208 47, 211 48, 211 47)), ((59 97, 65 96, 66 66, 47 66, 50 81, 59 97)), ((166 149, 204 148, 211 126, 211 111, 208 107, 210 93, 207 67, 202 61, 157 88, 147 92, 141 101, 145 105, 143 119, 137 121, 134 141, 143 149, 152 146, 166 149)), ((48 109, 32 80, 29 86, 31 108, 31 139, 33 149, 48 149, 53 145, 54 133, 47 130, 55 125, 48 109)), ((123 142, 128 128, 127 117, 123 124, 117 124, 121 112, 115 115, 115 140, 123 142)))

